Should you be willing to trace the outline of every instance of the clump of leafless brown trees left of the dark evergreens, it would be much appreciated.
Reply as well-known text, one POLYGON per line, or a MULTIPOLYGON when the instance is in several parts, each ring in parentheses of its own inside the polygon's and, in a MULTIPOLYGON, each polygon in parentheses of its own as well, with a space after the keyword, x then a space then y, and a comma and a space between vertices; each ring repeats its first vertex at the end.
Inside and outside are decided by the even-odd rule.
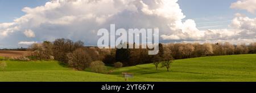
MULTIPOLYGON (((90 67, 92 61, 103 59, 99 48, 84 47, 84 42, 73 42, 70 39, 56 39, 54 42, 44 41, 35 43, 29 48, 32 53, 30 58, 33 60, 55 59, 61 64, 77 70, 90 67)), ((104 53, 104 52, 102 52, 104 53)))

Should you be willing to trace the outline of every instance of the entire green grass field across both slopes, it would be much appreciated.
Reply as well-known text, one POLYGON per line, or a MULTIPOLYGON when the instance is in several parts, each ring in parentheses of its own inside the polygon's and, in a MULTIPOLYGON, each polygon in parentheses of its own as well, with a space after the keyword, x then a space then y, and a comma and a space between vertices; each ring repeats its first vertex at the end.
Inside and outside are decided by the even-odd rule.
MULTIPOLYGON (((134 73, 128 81, 256 81, 256 54, 198 57, 175 60, 170 72, 154 65, 114 69, 111 74, 76 71, 57 61, 6 61, 0 81, 125 81, 122 72, 134 73)), ((110 67, 109 67, 110 68, 110 67)))

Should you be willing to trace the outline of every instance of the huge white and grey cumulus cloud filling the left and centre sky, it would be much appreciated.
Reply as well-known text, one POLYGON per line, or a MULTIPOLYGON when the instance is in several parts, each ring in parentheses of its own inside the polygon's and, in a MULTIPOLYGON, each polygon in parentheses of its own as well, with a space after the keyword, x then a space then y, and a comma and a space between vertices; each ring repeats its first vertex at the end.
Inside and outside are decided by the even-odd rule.
POLYGON ((167 34, 179 28, 185 17, 177 0, 52 0, 22 11, 26 15, 13 23, 0 24, 2 37, 30 29, 24 34, 40 34, 36 41, 69 38, 93 45, 97 43, 97 30, 110 24, 125 29, 159 28, 160 34, 167 34))

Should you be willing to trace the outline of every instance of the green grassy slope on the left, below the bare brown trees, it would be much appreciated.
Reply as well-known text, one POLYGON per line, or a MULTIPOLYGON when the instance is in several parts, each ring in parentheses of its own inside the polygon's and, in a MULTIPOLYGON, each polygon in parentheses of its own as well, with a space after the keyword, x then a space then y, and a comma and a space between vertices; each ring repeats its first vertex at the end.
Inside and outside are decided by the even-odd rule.
POLYGON ((76 71, 62 67, 57 61, 6 61, 0 81, 121 81, 122 77, 76 71))

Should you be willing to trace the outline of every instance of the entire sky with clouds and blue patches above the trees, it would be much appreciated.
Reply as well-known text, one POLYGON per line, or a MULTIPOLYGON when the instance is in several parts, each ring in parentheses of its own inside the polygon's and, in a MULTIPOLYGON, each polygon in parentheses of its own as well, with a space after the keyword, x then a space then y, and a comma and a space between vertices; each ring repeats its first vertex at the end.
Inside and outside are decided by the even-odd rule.
POLYGON ((0 0, 0 48, 56 38, 97 45, 97 30, 159 28, 160 42, 256 42, 255 0, 0 0))

